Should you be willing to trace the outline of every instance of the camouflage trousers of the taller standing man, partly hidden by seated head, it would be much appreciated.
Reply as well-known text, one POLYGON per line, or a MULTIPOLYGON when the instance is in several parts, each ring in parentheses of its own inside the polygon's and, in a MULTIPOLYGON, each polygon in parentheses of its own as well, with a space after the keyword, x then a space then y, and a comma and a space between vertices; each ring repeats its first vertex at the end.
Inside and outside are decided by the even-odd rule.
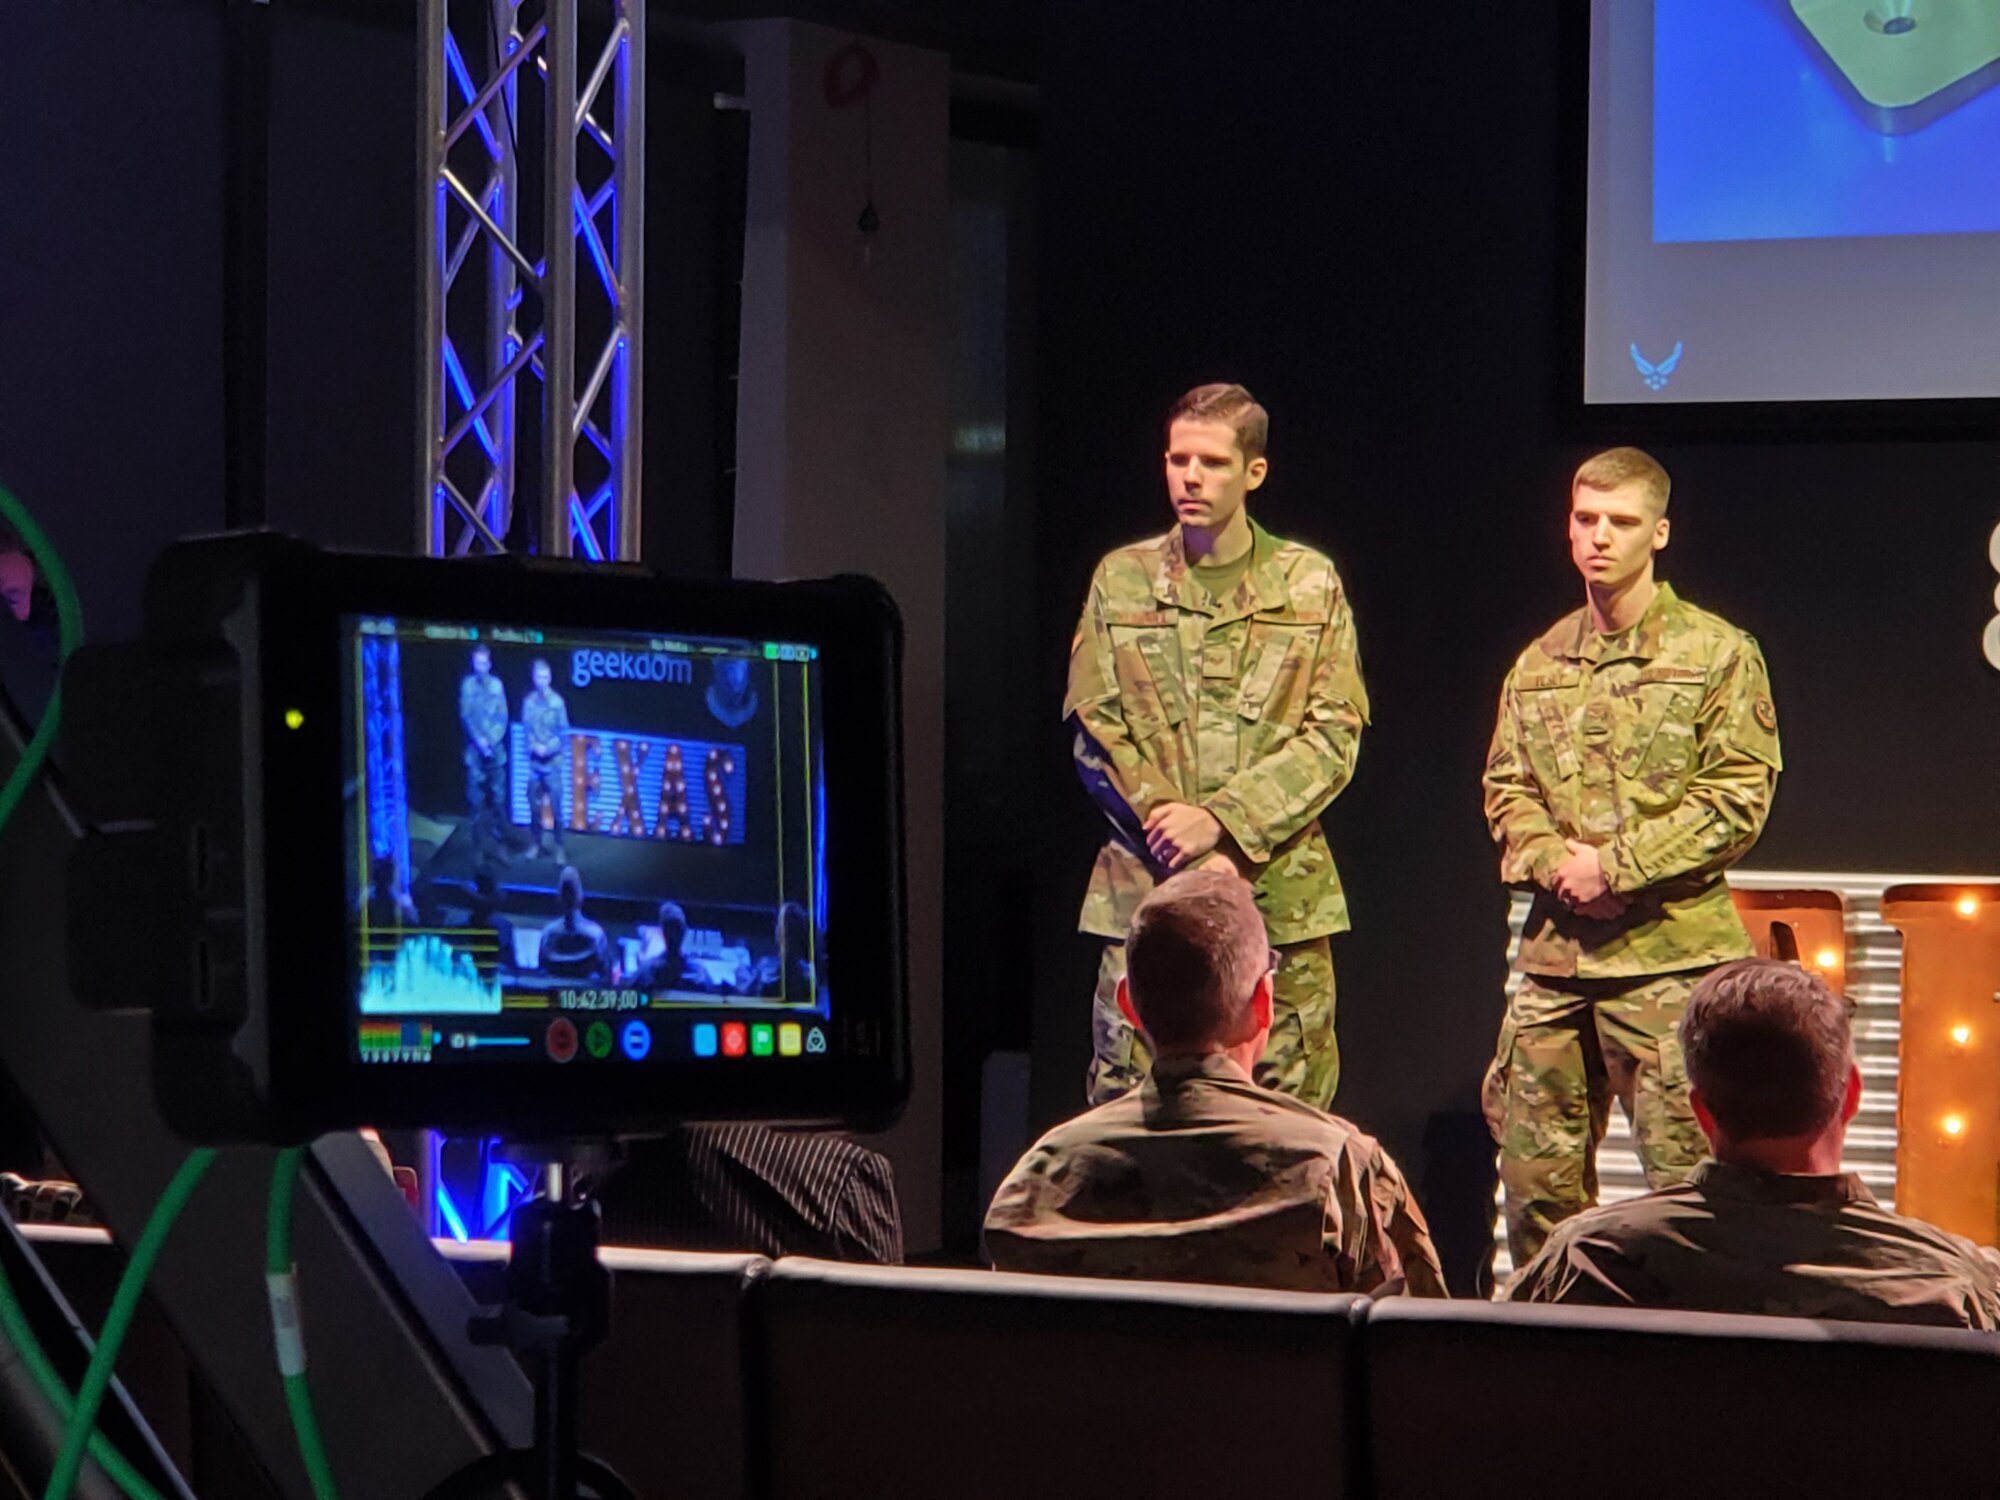
MULTIPOLYGON (((1334 1038, 1334 950, 1326 938, 1274 944, 1272 1024, 1256 1080, 1316 1108, 1330 1108, 1340 1084, 1340 1042, 1334 1038)), ((1098 962, 1098 992, 1090 1006, 1090 1102, 1108 1104, 1144 1082, 1152 1068, 1146 1038, 1118 1010, 1124 944, 1106 942, 1098 962)))

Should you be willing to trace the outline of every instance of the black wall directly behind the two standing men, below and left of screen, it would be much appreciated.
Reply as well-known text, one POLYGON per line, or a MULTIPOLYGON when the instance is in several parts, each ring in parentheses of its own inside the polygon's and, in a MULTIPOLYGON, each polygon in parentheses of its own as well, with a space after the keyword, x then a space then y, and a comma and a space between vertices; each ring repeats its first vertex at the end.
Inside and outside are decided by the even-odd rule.
MULTIPOLYGON (((1514 654, 1580 602, 1566 484, 1606 446, 1552 396, 1558 12, 1066 0, 1040 68, 1038 1124, 1078 1104, 1094 964, 1074 914, 1098 830, 1056 732, 1070 630, 1100 552, 1170 524, 1160 410, 1236 378, 1272 410, 1256 514, 1340 564, 1374 696, 1328 820, 1354 910, 1338 1108, 1420 1180, 1460 1282, 1506 942, 1480 766, 1514 654)), ((1978 648, 2000 442, 1616 440, 1674 474, 1662 574, 1770 656, 1790 770, 1754 860, 2000 868, 1978 648)))

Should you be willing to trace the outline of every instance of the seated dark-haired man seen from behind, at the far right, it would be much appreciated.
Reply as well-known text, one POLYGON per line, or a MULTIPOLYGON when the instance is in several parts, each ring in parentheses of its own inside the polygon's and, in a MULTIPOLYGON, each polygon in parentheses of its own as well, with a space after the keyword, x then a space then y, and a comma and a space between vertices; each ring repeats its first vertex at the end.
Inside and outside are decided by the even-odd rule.
POLYGON ((1846 1000, 1742 958, 1694 986, 1680 1050, 1712 1160, 1558 1224, 1508 1300, 2000 1328, 1992 1250, 1888 1212, 1840 1170, 1862 1098, 1846 1000))

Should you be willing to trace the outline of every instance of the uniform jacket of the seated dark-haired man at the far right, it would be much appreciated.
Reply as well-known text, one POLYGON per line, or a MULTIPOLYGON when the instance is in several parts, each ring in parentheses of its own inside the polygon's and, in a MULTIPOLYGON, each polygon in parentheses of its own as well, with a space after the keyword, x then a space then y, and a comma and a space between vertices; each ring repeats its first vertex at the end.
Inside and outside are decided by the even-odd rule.
POLYGON ((1888 1212, 1854 1174, 1702 1162, 1678 1188, 1558 1224, 1504 1298, 2000 1328, 2000 1260, 1888 1212))

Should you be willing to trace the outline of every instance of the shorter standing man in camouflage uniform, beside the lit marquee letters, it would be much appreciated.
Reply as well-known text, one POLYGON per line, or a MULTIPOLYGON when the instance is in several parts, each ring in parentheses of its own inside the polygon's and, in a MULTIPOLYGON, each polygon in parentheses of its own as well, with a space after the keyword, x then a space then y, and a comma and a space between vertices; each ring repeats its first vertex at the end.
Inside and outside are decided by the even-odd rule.
POLYGON ((1636 450, 1578 472, 1590 602, 1514 664, 1486 760, 1500 878, 1534 886, 1482 1090, 1514 1264, 1596 1202, 1612 1094, 1652 1188, 1694 1170, 1674 1026, 1702 972, 1752 952, 1722 872, 1770 812, 1778 716, 1756 640, 1654 582, 1664 510, 1636 450))

